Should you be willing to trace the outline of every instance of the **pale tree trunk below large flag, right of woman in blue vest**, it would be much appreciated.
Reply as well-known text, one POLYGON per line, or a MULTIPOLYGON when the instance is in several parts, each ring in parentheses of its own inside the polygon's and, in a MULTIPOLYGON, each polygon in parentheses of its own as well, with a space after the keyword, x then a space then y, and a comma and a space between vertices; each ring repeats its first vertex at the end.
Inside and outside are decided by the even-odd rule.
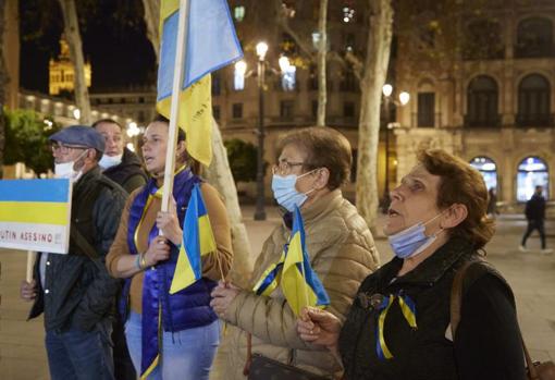
POLYGON ((227 151, 223 145, 220 127, 213 120, 212 149, 212 163, 205 171, 205 177, 223 196, 230 218, 234 254, 230 280, 240 287, 246 287, 252 271, 250 243, 247 229, 243 223, 243 214, 240 213, 239 200, 237 198, 237 188, 230 169, 230 162, 227 161, 227 151))

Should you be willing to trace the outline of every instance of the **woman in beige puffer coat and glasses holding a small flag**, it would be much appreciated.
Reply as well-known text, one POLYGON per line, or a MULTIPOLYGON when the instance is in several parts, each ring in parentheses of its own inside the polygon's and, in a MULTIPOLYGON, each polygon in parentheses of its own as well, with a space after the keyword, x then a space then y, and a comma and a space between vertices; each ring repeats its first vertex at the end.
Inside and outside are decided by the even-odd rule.
POLYGON ((372 235, 341 192, 351 166, 345 136, 328 127, 296 130, 278 151, 272 189, 284 222, 266 241, 249 289, 220 283, 212 291, 214 310, 238 328, 229 331, 230 352, 219 368, 225 379, 245 379, 249 370, 251 379, 264 378, 255 354, 316 375, 341 372, 329 353, 297 336, 297 315, 318 305, 343 319, 378 267, 372 235))

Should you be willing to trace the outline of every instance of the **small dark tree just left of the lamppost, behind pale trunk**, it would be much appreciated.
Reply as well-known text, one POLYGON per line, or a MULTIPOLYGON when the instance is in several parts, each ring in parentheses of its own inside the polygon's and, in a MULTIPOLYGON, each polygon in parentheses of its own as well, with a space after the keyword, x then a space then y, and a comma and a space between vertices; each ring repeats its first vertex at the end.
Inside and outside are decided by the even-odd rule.
POLYGON ((227 149, 227 159, 236 182, 250 182, 257 177, 257 148, 239 138, 223 143, 227 149))

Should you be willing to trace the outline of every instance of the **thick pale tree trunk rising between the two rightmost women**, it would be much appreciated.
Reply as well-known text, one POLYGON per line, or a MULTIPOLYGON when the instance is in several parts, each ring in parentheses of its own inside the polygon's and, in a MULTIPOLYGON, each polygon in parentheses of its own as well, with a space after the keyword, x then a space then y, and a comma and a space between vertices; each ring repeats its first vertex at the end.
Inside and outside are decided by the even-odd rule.
POLYGON ((379 194, 377 182, 378 143, 382 86, 387 76, 392 39, 391 0, 369 0, 370 27, 363 76, 360 81, 358 126, 357 208, 370 229, 375 230, 379 194))

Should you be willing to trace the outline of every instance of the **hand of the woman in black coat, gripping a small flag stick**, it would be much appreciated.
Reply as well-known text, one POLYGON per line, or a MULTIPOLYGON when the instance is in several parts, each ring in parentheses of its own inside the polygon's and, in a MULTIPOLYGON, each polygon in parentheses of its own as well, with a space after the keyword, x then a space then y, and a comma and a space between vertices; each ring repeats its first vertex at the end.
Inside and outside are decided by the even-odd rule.
POLYGON ((297 320, 297 332, 301 340, 319 344, 334 352, 337 350, 341 321, 330 311, 317 307, 305 307, 297 320))

